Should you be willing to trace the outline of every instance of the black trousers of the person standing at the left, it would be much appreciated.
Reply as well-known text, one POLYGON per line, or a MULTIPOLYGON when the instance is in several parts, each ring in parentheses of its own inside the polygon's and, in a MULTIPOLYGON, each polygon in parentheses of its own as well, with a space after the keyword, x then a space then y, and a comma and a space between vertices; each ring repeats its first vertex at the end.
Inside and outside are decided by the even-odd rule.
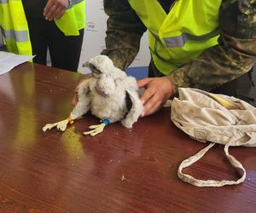
POLYGON ((55 25, 55 21, 44 18, 26 18, 32 43, 33 61, 46 65, 47 49, 51 65, 57 68, 76 72, 79 67, 80 53, 84 37, 84 29, 79 36, 65 36, 55 25))

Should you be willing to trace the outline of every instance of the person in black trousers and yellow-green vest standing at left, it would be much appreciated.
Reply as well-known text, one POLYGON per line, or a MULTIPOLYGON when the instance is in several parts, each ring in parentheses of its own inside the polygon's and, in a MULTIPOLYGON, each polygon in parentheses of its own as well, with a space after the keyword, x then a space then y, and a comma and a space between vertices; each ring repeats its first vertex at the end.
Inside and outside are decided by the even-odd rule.
POLYGON ((84 0, 0 1, 0 26, 9 52, 36 55, 46 65, 77 71, 84 37, 84 0))

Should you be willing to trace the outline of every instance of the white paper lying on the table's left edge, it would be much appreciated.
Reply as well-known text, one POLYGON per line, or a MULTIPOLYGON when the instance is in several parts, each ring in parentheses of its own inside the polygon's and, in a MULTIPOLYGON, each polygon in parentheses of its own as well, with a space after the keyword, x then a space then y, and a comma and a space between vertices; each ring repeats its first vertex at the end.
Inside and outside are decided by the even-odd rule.
POLYGON ((0 51, 0 75, 12 70, 15 66, 18 66, 28 60, 31 60, 34 56, 29 55, 15 55, 12 53, 6 53, 0 51))

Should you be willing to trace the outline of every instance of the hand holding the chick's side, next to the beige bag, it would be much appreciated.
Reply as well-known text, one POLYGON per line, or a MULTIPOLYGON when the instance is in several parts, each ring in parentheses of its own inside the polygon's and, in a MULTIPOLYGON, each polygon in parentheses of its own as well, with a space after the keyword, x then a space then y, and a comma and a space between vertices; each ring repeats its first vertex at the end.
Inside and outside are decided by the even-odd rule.
POLYGON ((144 111, 141 117, 157 112, 177 92, 176 87, 167 77, 143 78, 137 81, 137 85, 139 88, 145 88, 141 96, 141 101, 144 105, 144 111))

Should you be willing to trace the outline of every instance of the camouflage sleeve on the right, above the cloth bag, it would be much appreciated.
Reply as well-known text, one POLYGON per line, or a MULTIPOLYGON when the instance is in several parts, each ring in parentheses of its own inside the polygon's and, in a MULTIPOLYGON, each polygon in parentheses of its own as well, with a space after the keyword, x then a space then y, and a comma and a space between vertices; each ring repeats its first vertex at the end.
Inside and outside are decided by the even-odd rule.
POLYGON ((211 90, 248 72, 256 56, 256 2, 223 1, 218 45, 172 72, 176 87, 211 90))

